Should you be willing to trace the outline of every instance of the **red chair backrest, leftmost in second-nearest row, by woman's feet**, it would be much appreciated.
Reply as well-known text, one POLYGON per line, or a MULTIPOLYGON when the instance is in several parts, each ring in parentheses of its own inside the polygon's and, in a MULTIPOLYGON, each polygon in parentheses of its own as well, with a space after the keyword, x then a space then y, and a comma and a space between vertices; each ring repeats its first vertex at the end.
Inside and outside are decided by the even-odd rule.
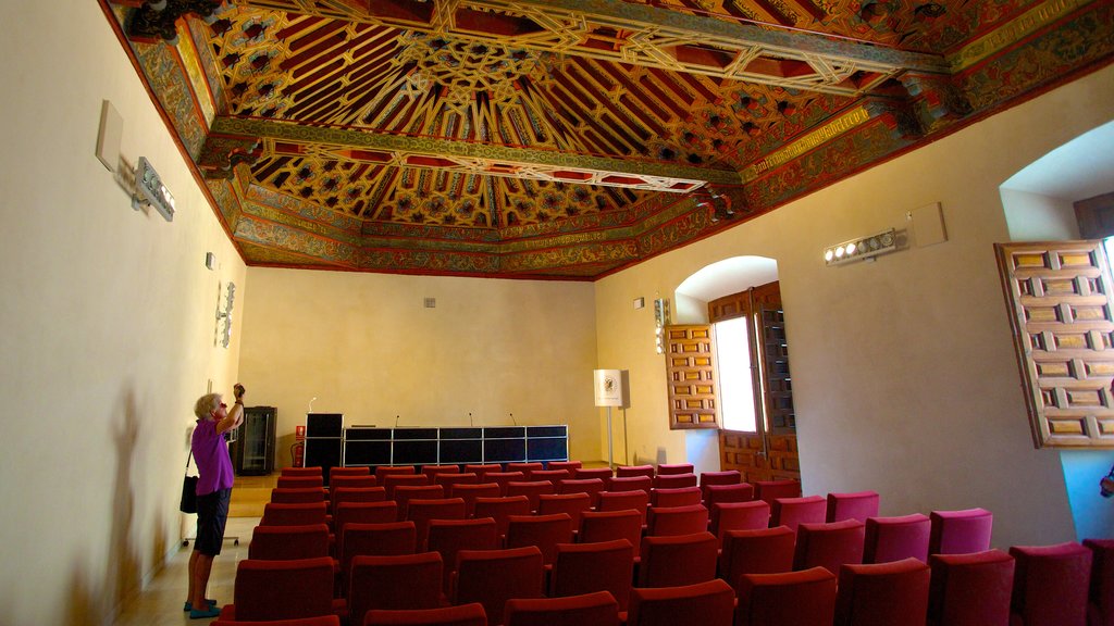
POLYGON ((241 622, 332 615, 333 559, 241 560, 233 598, 241 622))

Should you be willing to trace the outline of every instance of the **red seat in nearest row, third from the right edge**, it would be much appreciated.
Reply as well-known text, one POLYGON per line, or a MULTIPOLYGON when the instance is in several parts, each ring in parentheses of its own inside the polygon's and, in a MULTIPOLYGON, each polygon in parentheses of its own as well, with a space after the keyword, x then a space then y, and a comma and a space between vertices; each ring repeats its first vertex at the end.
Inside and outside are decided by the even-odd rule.
POLYGON ((931 626, 1009 626, 1014 557, 1001 550, 932 555, 929 566, 931 626))

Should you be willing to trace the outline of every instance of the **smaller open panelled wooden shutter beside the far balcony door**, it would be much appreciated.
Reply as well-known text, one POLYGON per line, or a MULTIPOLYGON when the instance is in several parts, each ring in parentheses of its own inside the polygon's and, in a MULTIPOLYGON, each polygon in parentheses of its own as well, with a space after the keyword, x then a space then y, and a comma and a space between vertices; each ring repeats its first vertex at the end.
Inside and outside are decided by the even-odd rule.
POLYGON ((709 324, 665 326, 670 428, 720 428, 715 338, 709 324))

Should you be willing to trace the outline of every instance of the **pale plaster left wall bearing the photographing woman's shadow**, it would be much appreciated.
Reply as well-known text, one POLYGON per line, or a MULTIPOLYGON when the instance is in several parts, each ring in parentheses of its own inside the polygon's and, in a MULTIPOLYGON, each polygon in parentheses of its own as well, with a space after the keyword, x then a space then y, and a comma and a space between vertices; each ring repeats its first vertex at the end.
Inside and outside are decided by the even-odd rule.
POLYGON ((178 549, 193 403, 236 375, 238 344, 214 346, 217 288, 244 265, 97 3, 6 9, 0 623, 105 624, 178 549), (176 196, 173 223, 134 211, 94 156, 104 99, 121 156, 176 196))

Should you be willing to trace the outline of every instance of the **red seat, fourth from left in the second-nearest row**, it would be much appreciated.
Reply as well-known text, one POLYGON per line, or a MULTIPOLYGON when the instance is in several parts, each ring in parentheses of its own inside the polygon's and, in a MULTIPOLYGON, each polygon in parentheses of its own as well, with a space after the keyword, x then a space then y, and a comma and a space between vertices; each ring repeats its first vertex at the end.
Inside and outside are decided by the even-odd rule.
POLYGON ((634 580, 634 546, 626 539, 558 544, 549 575, 549 597, 608 591, 626 613, 634 580))

